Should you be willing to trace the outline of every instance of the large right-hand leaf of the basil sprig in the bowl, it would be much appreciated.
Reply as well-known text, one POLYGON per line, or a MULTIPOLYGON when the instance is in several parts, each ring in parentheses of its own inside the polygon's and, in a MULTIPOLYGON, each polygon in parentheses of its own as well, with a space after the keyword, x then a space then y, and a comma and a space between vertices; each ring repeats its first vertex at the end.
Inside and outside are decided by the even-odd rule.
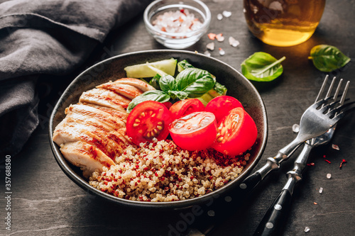
POLYGON ((213 88, 216 79, 203 69, 187 68, 178 74, 173 90, 184 91, 189 98, 197 98, 213 88))

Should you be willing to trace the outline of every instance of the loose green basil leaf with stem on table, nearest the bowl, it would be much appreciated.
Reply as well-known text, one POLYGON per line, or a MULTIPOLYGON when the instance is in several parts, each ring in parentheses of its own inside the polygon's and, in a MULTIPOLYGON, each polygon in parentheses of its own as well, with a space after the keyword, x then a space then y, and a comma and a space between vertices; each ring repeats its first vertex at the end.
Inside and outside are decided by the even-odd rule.
POLYGON ((250 80, 270 82, 283 74, 281 62, 285 59, 276 60, 266 52, 255 52, 241 63, 241 73, 250 80))

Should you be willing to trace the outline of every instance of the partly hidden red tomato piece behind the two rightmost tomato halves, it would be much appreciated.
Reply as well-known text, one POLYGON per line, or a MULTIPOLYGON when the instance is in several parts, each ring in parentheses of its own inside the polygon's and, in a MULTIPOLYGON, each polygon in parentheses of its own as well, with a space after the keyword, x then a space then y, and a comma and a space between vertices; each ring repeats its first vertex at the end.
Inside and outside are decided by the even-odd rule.
POLYGON ((237 99, 234 99, 232 96, 217 96, 209 103, 207 103, 206 108, 204 108, 204 111, 209 111, 214 113, 214 116, 216 116, 217 123, 224 118, 228 114, 229 111, 233 108, 237 108, 243 106, 241 105, 241 102, 238 101, 237 99))

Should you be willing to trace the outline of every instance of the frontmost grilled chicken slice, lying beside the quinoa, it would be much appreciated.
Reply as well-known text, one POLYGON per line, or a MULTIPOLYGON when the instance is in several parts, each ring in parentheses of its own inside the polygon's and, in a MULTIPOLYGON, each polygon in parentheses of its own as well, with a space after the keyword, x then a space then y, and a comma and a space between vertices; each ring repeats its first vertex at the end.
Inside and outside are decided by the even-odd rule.
POLYGON ((70 163, 82 169, 85 178, 95 170, 102 172, 102 167, 109 168, 115 165, 104 152, 86 142, 67 142, 60 147, 60 151, 70 163))

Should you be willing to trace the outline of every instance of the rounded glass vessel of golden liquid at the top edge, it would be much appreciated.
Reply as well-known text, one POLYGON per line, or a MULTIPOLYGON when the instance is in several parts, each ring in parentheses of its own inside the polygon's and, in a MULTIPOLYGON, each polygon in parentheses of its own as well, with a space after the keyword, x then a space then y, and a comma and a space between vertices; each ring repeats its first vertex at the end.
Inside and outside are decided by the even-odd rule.
POLYGON ((288 47, 315 33, 325 0, 244 0, 251 33, 269 45, 288 47))

